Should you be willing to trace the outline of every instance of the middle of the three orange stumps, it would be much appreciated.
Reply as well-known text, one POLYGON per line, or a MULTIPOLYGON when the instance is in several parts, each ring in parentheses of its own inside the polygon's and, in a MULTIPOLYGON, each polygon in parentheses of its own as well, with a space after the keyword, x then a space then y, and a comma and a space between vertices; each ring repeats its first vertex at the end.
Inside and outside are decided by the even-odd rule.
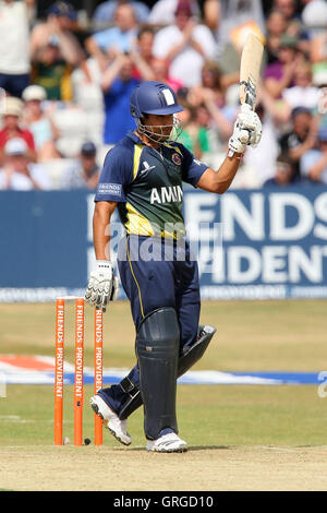
POLYGON ((76 299, 75 312, 75 385, 74 445, 83 444, 83 367, 84 367, 84 299, 76 299))

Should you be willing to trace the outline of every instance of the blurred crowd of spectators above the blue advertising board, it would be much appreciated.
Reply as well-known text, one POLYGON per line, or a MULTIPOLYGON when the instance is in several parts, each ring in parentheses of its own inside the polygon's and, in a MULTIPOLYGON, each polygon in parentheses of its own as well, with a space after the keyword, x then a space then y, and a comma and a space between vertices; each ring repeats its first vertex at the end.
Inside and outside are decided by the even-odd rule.
POLYGON ((249 32, 265 44, 263 138, 232 187, 327 183, 326 0, 106 0, 92 17, 59 1, 44 19, 36 2, 0 0, 1 190, 94 190, 145 80, 175 91, 180 142, 217 169, 249 32))

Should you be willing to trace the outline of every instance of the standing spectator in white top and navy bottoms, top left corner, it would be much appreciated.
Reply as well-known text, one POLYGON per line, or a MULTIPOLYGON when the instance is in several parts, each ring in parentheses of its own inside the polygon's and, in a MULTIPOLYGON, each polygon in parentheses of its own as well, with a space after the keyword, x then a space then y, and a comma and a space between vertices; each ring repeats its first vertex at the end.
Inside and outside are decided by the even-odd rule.
POLYGON ((29 15, 34 0, 0 2, 0 87, 21 97, 28 85, 29 15))

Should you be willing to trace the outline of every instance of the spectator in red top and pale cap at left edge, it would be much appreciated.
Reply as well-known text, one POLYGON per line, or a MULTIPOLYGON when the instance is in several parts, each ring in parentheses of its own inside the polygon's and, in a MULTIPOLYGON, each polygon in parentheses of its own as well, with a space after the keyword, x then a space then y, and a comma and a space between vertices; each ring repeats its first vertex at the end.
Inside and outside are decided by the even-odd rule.
POLYGON ((0 152, 3 159, 3 148, 11 139, 23 139, 27 145, 27 156, 31 160, 36 160, 35 143, 33 133, 21 127, 23 115, 23 102, 19 98, 7 97, 4 100, 4 111, 2 115, 2 130, 0 130, 0 152))

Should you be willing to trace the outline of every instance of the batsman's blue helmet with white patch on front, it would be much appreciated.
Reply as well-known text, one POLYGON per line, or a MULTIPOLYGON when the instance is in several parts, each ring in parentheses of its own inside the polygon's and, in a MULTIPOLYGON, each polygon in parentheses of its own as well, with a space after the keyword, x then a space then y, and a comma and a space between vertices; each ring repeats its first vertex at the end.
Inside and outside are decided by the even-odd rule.
POLYGON ((132 91, 130 109, 133 118, 142 118, 143 114, 168 115, 181 112, 183 107, 178 104, 174 91, 162 82, 155 80, 143 82, 132 91))

